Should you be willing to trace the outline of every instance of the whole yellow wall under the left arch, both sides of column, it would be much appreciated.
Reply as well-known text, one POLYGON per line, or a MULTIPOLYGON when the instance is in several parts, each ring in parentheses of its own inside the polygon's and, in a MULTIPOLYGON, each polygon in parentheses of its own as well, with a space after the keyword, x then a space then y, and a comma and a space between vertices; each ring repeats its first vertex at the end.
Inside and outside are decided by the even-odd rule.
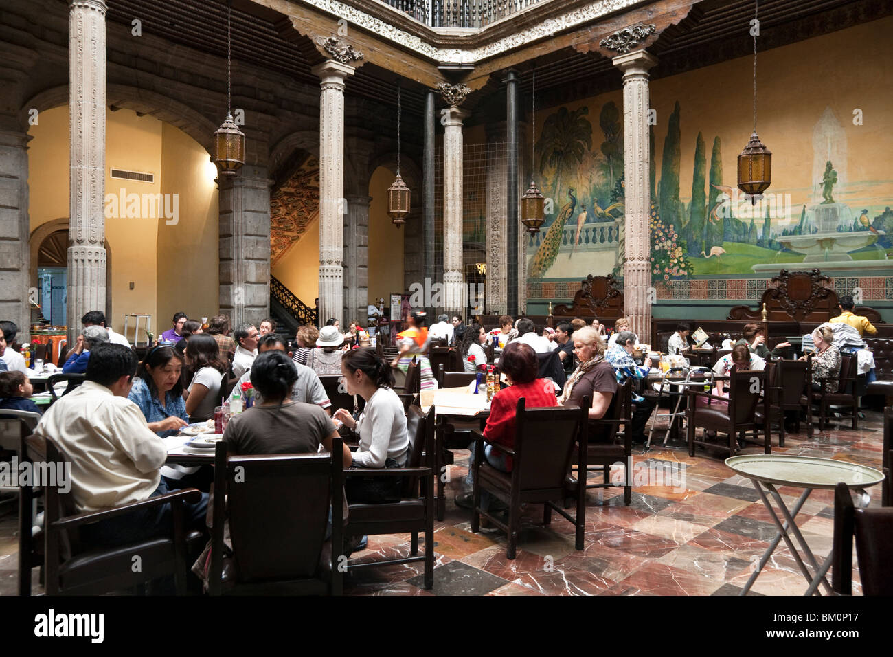
MULTIPOLYGON (((68 107, 41 112, 29 135, 33 232, 43 223, 69 216, 68 107)), ((140 313, 153 316, 154 329, 166 329, 174 312, 171 307, 179 310, 179 304, 195 316, 213 315, 218 296, 218 212, 213 177, 205 165, 208 154, 179 129, 130 110, 106 114, 105 148, 106 195, 120 196, 121 188, 125 201, 131 193, 179 193, 178 226, 165 225, 163 210, 156 210, 157 218, 142 216, 142 206, 141 216, 128 218, 126 204, 105 219, 112 256, 111 286, 106 292, 111 299, 110 324, 121 332, 124 315, 140 313), (154 182, 113 180, 109 176, 113 167, 153 173, 154 182)))

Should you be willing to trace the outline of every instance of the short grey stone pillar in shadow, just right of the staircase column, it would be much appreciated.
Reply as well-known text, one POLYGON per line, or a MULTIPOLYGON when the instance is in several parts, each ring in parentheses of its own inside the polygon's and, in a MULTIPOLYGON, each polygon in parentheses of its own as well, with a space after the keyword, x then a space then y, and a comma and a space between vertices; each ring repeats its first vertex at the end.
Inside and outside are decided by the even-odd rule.
POLYGON ((369 202, 368 196, 347 197, 344 215, 344 313, 341 325, 366 325, 369 311, 369 202))

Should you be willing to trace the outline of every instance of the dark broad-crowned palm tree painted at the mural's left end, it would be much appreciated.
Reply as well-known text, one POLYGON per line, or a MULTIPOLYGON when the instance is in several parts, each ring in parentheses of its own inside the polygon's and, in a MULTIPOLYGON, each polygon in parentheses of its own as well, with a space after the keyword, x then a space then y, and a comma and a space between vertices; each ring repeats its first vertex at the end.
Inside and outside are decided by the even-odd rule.
POLYGON ((561 194, 564 174, 576 173, 586 150, 592 150, 592 124, 586 118, 589 108, 582 105, 572 112, 559 107, 550 114, 539 134, 539 173, 555 169, 555 196, 561 194))

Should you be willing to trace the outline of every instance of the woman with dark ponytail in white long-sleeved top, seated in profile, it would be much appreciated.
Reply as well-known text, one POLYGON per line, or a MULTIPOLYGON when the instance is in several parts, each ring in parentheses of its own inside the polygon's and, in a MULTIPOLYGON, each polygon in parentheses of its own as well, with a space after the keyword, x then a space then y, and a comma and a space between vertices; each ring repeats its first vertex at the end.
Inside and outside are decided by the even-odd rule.
MULTIPOLYGON (((394 374, 375 350, 347 351, 341 360, 347 394, 366 400, 365 409, 355 420, 347 409, 335 411, 335 419, 359 436, 360 447, 353 453, 356 467, 404 467, 409 450, 409 434, 403 402, 394 392, 394 374)), ((400 497, 402 482, 397 477, 346 477, 347 501, 376 503, 400 497)))

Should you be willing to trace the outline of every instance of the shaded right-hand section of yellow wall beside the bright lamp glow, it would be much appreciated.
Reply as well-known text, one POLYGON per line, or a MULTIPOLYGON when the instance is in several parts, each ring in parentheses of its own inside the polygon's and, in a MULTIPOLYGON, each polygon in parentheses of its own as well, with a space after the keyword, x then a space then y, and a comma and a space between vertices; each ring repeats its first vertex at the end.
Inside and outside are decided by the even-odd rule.
MULTIPOLYGON (((182 311, 199 321, 218 309, 217 167, 204 147, 172 125, 162 127, 162 193, 178 194, 174 225, 158 219, 158 325, 182 311)), ((171 220, 172 221, 172 220, 171 220)))

